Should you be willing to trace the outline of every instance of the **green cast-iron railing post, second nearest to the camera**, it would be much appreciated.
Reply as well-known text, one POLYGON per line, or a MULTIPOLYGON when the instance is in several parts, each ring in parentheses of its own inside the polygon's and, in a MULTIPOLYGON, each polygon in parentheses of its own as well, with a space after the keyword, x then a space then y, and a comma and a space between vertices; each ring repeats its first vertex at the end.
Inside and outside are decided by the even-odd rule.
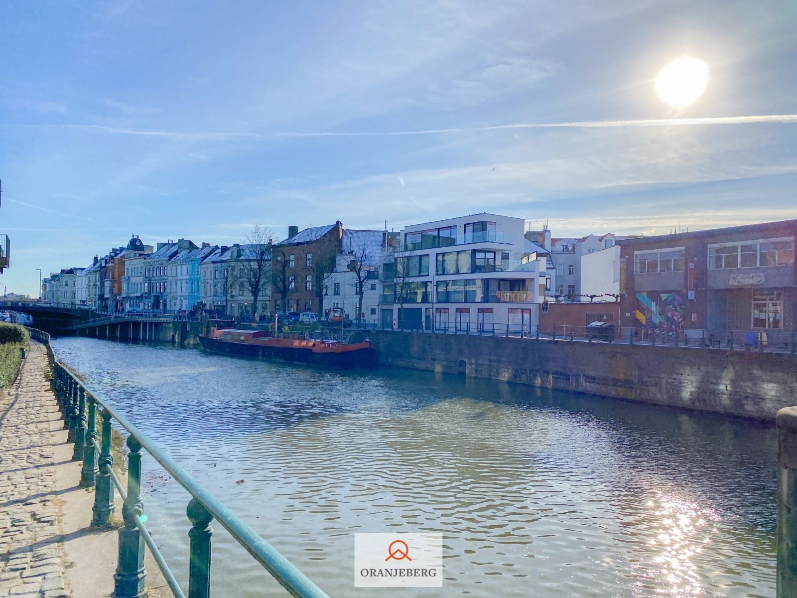
POLYGON ((144 537, 136 527, 144 509, 141 504, 141 444, 128 436, 128 498, 122 506, 124 527, 119 530, 119 564, 116 565, 114 598, 146 598, 144 537))

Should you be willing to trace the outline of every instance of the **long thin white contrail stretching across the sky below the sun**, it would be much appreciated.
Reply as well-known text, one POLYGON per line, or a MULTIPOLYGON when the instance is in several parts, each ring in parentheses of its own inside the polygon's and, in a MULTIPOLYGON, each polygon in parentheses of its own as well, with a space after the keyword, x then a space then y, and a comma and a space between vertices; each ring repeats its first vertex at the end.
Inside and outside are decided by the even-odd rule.
POLYGON ((444 135, 446 133, 487 132, 501 131, 504 129, 527 128, 623 128, 623 127, 683 127, 686 125, 708 124, 795 124, 797 114, 770 114, 760 116, 709 116, 698 118, 661 118, 639 120, 573 120, 564 123, 516 123, 494 124, 486 127, 453 127, 418 129, 414 131, 386 131, 386 132, 273 132, 273 133, 247 133, 247 132, 177 132, 177 131, 147 131, 132 128, 105 127, 100 124, 71 124, 70 128, 83 128, 113 135, 132 135, 147 137, 165 137, 175 140, 205 140, 205 141, 245 141, 245 140, 271 140, 277 138, 301 137, 391 137, 414 135, 444 135))

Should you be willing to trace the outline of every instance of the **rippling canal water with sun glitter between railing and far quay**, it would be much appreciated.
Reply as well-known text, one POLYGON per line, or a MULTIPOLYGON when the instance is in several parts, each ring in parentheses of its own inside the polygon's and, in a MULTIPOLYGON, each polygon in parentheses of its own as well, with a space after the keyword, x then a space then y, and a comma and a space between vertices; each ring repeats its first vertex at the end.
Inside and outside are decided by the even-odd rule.
MULTIPOLYGON (((427 372, 53 344, 333 598, 775 596, 764 424, 427 372), (444 534, 442 588, 353 587, 355 532, 414 531, 444 534)), ((187 494, 144 467, 147 525, 186 584, 187 494)), ((286 596, 215 529, 214 596, 286 596)))

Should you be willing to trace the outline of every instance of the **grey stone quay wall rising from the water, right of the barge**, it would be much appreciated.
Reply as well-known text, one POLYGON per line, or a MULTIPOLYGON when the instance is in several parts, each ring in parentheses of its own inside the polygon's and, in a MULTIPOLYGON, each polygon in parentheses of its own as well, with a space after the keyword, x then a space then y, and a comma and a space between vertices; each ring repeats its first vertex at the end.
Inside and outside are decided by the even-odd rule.
POLYGON ((797 356, 369 330, 379 363, 713 411, 773 423, 797 403, 797 356))

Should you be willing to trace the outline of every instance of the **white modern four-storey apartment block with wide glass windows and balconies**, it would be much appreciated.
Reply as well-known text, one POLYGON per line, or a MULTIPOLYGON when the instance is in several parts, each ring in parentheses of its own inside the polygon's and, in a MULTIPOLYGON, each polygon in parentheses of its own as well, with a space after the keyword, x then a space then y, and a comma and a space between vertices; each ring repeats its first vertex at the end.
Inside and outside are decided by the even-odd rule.
POLYGON ((530 332, 546 266, 528 252, 524 226, 489 213, 406 226, 394 284, 383 286, 382 324, 389 317, 402 329, 530 332))

